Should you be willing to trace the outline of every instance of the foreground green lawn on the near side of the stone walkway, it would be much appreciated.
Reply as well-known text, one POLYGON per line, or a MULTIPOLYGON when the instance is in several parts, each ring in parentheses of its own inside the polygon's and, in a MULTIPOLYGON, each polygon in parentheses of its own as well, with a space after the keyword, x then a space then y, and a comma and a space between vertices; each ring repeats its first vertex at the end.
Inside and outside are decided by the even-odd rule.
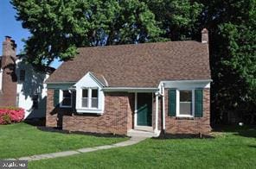
POLYGON ((215 133, 214 139, 148 139, 70 157, 29 162, 29 168, 255 168, 256 128, 215 133))

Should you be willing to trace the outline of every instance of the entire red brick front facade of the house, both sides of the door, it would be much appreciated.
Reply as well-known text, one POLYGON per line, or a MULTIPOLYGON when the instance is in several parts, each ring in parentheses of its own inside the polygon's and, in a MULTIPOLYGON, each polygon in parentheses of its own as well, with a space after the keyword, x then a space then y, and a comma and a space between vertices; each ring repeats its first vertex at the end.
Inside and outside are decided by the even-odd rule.
MULTIPOLYGON (((73 95, 75 99, 75 96, 73 95)), ((207 134, 210 128, 210 93, 203 91, 203 117, 177 118, 168 116, 168 90, 165 90, 165 132, 168 134, 207 134)), ((48 89, 47 123, 48 127, 62 127, 69 131, 90 133, 114 133, 126 135, 134 126, 135 94, 127 92, 106 92, 105 111, 102 115, 75 113, 73 109, 54 108, 54 90, 48 89)), ((152 127, 155 128, 156 99, 152 105, 152 127)), ((158 129, 163 129, 163 99, 159 97, 158 129)))

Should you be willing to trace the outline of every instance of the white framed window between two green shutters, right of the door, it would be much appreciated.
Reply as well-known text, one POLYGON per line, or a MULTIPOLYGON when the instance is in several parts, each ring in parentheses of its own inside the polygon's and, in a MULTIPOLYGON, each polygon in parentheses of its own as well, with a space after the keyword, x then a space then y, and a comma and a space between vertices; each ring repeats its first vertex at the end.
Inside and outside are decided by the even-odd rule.
POLYGON ((195 90, 176 91, 176 116, 193 117, 195 115, 195 90))

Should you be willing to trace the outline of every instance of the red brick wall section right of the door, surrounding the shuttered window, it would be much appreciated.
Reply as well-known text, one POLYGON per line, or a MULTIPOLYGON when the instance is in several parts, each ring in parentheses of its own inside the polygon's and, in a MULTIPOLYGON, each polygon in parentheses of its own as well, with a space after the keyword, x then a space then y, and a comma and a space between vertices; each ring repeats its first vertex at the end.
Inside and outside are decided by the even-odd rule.
POLYGON ((168 90, 165 90, 166 133, 169 134, 207 134, 210 130, 210 91, 203 90, 203 116, 192 119, 168 116, 168 90))

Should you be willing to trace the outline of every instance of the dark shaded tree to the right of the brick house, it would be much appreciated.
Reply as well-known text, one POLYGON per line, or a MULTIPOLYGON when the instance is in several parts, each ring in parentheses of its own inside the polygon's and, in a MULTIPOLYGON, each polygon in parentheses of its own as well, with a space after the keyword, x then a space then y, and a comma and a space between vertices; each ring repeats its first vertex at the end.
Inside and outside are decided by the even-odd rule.
POLYGON ((228 113, 245 120, 256 108, 256 1, 202 3, 200 22, 210 30, 212 115, 222 122, 228 113))

